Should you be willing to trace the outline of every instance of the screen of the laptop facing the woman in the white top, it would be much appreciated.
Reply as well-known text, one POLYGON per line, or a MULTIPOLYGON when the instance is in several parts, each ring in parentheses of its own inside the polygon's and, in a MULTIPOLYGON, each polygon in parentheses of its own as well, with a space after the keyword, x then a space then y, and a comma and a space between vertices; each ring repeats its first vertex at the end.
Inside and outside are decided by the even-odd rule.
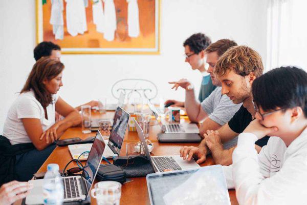
POLYGON ((127 130, 129 114, 117 107, 108 144, 119 154, 127 130))

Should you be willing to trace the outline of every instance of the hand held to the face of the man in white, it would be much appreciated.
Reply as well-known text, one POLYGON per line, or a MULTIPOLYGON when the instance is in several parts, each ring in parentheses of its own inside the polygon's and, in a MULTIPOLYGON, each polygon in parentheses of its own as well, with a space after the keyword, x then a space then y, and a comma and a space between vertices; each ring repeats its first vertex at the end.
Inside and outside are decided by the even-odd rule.
POLYGON ((278 131, 277 127, 271 127, 271 128, 267 128, 263 125, 260 124, 260 121, 258 119, 254 119, 253 121, 251 121, 251 123, 247 126, 247 128, 245 128, 245 130, 243 131, 245 132, 249 132, 249 133, 253 133, 254 135, 257 136, 258 139, 261 139, 262 137, 276 132, 278 131))

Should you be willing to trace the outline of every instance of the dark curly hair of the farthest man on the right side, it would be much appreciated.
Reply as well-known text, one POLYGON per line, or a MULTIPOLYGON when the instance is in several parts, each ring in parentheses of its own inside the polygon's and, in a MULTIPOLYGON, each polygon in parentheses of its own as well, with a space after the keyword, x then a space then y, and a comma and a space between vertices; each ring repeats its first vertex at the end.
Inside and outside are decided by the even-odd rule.
POLYGON ((203 33, 195 33, 185 40, 183 46, 189 46, 196 54, 205 50, 211 44, 211 39, 203 33))

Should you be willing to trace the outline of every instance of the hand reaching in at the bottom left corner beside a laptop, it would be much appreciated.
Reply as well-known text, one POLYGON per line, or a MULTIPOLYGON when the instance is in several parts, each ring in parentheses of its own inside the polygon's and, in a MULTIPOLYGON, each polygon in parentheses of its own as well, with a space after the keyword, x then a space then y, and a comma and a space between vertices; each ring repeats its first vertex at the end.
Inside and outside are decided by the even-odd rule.
POLYGON ((11 181, 0 188, 0 204, 12 204, 25 198, 33 185, 29 182, 11 181))

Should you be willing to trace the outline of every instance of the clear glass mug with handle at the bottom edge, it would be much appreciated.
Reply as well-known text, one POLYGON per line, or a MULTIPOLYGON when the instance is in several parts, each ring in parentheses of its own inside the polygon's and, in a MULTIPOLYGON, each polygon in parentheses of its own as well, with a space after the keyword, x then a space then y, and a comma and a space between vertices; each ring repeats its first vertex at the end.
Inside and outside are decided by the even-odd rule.
POLYGON ((117 181, 100 181, 91 191, 98 205, 119 205, 121 197, 121 183, 117 181))

